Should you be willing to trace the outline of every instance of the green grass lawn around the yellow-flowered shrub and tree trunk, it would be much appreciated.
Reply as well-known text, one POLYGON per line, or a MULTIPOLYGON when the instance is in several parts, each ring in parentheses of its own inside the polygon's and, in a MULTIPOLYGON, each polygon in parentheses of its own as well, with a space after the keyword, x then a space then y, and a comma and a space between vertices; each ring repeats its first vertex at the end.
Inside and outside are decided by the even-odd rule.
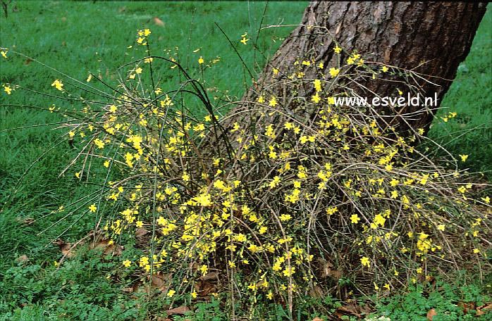
MULTIPOLYGON (((206 61, 219 56, 220 62, 207 73, 207 82, 217 92, 227 92, 233 99, 241 96, 250 79, 215 23, 230 37, 247 65, 258 72, 293 29, 291 25, 300 21, 306 5, 306 1, 268 5, 264 2, 13 1, 8 6, 8 18, 1 16, 0 46, 22 52, 81 81, 91 71, 111 82, 116 78, 116 68, 131 61, 131 54, 125 55, 125 50, 135 43, 136 31, 150 27, 154 52, 164 55, 164 50, 174 52, 178 46, 176 56, 185 67, 197 68, 199 56, 206 61), (159 20, 154 18, 164 25, 156 24, 159 20), (265 56, 252 50, 252 41, 248 46, 239 42, 245 32, 255 39, 260 23, 286 25, 259 33, 257 44, 265 56), (199 51, 193 52, 196 49, 199 51)), ((1 61, 0 84, 23 84, 47 92, 51 82, 61 77, 34 61, 9 56, 8 61, 1 61)), ((484 171, 489 179, 492 177, 491 77, 489 6, 472 50, 460 66, 438 115, 455 111, 458 116, 448 122, 436 118, 429 133, 429 137, 445 145, 456 157, 469 154, 467 162, 462 163, 463 168, 484 171)), ((59 122, 63 118, 46 111, 55 102, 46 96, 18 90, 11 96, 2 92, 0 99, 0 204, 3 204, 23 172, 62 133, 55 129, 56 125, 11 129, 59 122), (7 104, 34 107, 6 107, 7 104)), ((0 319, 3 315, 5 320, 143 320, 149 315, 159 315, 164 303, 122 291, 130 287, 131 275, 123 273, 123 277, 115 279, 111 274, 121 265, 121 258, 104 258, 100 251, 80 251, 80 256, 67 260, 56 270, 54 262, 62 254, 51 241, 78 220, 77 215, 39 235, 63 213, 28 224, 87 191, 72 173, 58 177, 70 153, 65 145, 47 153, 23 177, 10 205, 0 213, 0 319)), ((61 238, 76 241, 93 227, 94 218, 83 217, 61 238)), ((137 250, 125 248, 122 256, 132 251, 137 250)), ((202 313, 202 319, 195 315, 197 320, 223 317, 218 303, 203 303, 196 308, 197 315, 202 313)))

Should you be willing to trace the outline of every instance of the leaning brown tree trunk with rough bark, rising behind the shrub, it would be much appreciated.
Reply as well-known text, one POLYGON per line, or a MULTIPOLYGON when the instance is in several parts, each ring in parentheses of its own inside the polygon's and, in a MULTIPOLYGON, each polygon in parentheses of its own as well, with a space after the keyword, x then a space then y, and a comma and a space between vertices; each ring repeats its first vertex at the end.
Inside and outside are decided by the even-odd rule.
MULTIPOLYGON (((286 70, 297 59, 305 58, 316 49, 314 60, 324 63, 325 72, 335 66, 339 58, 345 61, 348 53, 357 51, 367 61, 425 74, 424 78, 432 83, 418 80, 417 86, 425 96, 436 93, 438 101, 441 101, 458 65, 469 52, 485 11, 484 3, 312 1, 300 25, 285 39, 264 68, 257 86, 253 86, 244 99, 254 101, 257 98, 262 80, 271 79, 273 68, 286 70), (340 57, 333 53, 336 44, 344 49, 340 57)), ((309 75, 308 71, 305 77, 316 76, 309 75)), ((386 75, 388 77, 391 76, 386 75)), ((395 93, 394 82, 387 80, 367 79, 359 85, 380 96, 395 93)), ((282 86, 272 88, 273 94, 279 96, 285 90, 282 86)), ((399 112, 412 113, 418 109, 405 107, 399 112)), ((387 114, 388 110, 382 112, 387 114)), ((426 131, 432 119, 433 113, 422 113, 411 120, 410 126, 426 131)), ((234 117, 230 119, 232 122, 237 120, 234 117)), ((408 125, 396 122, 393 125, 408 125)))

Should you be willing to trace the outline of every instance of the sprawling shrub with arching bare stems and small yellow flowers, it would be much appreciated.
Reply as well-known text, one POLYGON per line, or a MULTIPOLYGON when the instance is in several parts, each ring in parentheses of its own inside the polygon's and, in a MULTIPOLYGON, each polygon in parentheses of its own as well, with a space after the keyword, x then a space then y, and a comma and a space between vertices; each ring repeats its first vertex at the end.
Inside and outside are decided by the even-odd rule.
POLYGON ((488 268, 488 199, 418 151, 419 130, 403 136, 371 106, 336 103, 355 95, 347 80, 388 67, 352 54, 326 74, 300 58, 278 71, 283 95, 271 90, 274 74, 255 101, 216 106, 178 61, 150 54, 149 34, 137 41, 146 56, 121 68, 107 100, 70 114, 66 139, 79 153, 66 172, 87 181, 94 172, 100 189, 67 208, 96 213, 116 242, 150 235, 146 254, 124 264, 172 275, 169 298, 220 292, 232 306, 270 300, 292 313, 319 291, 382 293, 488 268), (165 89, 157 63, 182 81, 165 89))

